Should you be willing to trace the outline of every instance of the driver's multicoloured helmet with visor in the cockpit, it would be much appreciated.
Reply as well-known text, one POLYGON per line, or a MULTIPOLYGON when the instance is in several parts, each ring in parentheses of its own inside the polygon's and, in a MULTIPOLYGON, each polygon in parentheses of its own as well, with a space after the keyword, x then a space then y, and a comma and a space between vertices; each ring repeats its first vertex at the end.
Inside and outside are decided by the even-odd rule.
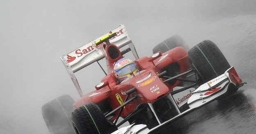
POLYGON ((115 77, 118 82, 133 76, 133 74, 135 75, 137 71, 136 63, 132 62, 130 59, 121 58, 114 64, 115 77))

